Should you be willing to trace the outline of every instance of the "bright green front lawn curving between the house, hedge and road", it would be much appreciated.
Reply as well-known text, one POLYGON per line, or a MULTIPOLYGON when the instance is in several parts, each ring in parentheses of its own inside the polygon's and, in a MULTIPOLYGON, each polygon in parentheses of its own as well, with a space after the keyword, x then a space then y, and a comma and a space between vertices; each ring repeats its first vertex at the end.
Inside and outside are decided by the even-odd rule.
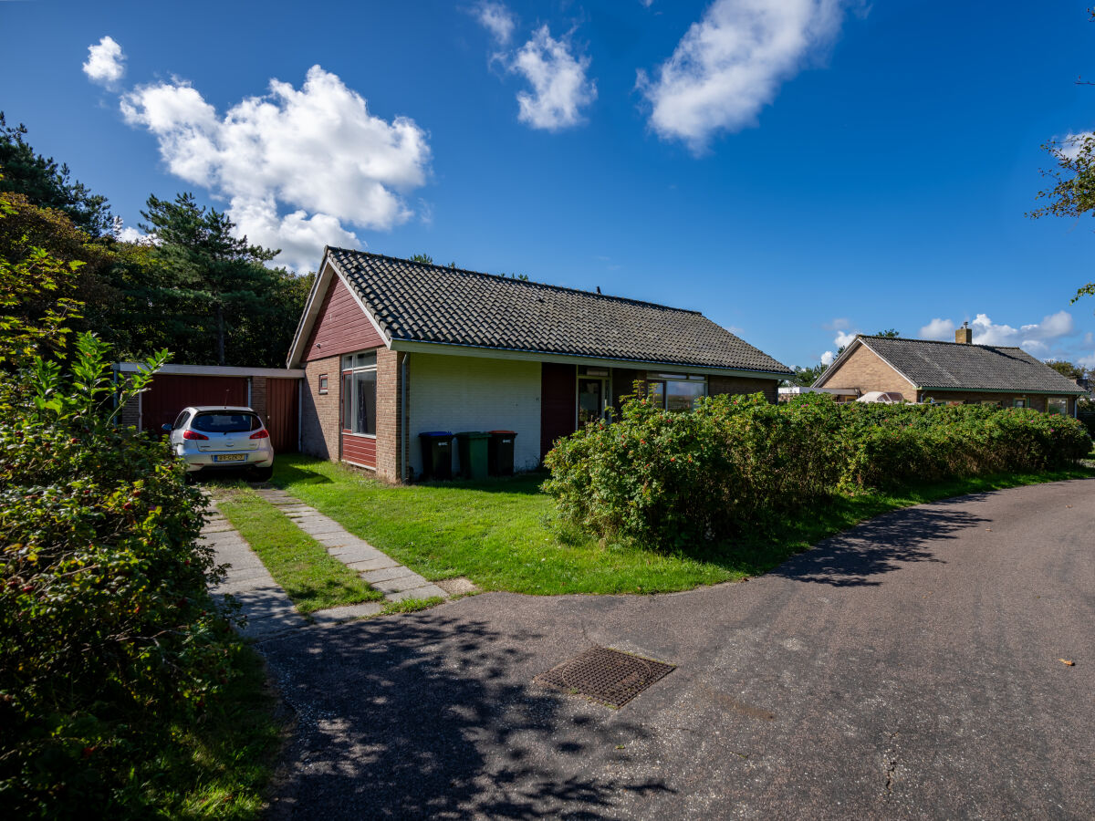
POLYGON ((393 487, 343 465, 279 456, 273 483, 428 579, 466 576, 484 590, 557 594, 667 592, 742 579, 888 510, 1092 475, 1076 469, 844 496, 772 523, 764 536, 684 552, 600 544, 562 527, 540 492, 545 474, 393 487))

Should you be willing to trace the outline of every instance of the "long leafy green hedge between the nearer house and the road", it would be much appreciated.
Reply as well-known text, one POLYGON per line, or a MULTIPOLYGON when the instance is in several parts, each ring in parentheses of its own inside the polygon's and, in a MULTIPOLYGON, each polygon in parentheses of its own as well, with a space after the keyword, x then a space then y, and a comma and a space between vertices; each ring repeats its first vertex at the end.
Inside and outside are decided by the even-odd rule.
POLYGON ((1075 420, 981 405, 784 405, 713 396, 673 413, 639 393, 612 425, 560 441, 544 489, 602 537, 719 541, 840 490, 1069 464, 1091 450, 1075 420))

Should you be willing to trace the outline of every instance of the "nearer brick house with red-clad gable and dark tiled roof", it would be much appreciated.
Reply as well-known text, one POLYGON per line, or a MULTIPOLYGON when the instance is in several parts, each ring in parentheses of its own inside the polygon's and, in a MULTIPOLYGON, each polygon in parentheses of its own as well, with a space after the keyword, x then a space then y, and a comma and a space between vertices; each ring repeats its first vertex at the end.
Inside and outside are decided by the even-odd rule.
POLYGON ((422 473, 422 432, 514 430, 528 470, 635 380, 688 408, 775 402, 791 375, 695 311, 332 247, 288 367, 304 371, 301 450, 389 482, 422 473))

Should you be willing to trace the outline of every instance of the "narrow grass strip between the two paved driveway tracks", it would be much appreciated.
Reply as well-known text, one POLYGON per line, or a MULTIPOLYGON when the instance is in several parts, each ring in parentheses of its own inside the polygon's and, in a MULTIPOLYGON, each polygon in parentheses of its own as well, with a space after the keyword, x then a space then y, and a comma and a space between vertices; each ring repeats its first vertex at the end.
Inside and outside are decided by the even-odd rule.
POLYGON ((384 598, 254 490, 220 487, 217 507, 301 613, 384 598))

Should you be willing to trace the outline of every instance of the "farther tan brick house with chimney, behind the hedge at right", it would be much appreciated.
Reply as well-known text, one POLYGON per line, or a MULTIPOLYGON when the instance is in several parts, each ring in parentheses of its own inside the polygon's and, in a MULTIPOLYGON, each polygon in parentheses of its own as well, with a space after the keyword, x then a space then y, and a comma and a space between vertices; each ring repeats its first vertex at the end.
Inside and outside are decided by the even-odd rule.
POLYGON ((899 394, 906 402, 990 403, 1002 407, 1076 413, 1083 394, 1022 348, 973 345, 960 327, 955 342, 856 336, 814 383, 814 388, 854 389, 861 394, 899 394))

